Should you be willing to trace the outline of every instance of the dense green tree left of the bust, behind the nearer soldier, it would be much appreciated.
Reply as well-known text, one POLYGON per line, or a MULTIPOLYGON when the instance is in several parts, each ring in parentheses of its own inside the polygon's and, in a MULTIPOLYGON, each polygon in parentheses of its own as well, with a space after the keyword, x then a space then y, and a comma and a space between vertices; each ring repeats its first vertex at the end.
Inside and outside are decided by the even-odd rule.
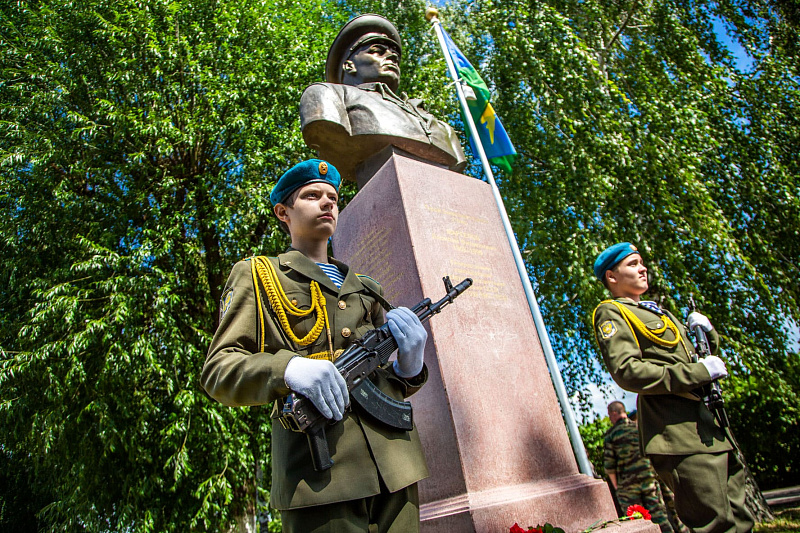
POLYGON ((4 5, 0 446, 49 487, 48 529, 255 516, 266 408, 223 408, 198 375, 230 265, 286 244, 266 191, 308 155, 326 11, 4 5))

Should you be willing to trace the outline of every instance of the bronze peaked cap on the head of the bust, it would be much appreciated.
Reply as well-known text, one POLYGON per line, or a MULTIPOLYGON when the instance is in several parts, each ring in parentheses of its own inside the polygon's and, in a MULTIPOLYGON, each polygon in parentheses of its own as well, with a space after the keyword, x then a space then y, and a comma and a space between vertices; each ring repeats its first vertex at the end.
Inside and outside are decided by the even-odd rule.
POLYGON ((328 83, 342 83, 342 63, 358 47, 373 42, 392 44, 397 47, 398 53, 403 51, 397 28, 380 15, 360 15, 345 24, 328 50, 328 60, 325 62, 325 79, 328 83))

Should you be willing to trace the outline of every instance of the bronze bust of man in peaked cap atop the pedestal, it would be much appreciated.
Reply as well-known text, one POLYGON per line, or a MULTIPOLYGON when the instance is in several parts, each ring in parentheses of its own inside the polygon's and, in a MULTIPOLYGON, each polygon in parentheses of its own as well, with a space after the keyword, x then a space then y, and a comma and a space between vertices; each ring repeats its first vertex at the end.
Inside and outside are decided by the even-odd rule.
POLYGON ((354 180, 358 165, 387 146, 457 172, 466 159, 455 131, 422 101, 397 94, 400 34, 379 15, 361 15, 336 36, 325 64, 327 83, 300 99, 306 144, 354 180))

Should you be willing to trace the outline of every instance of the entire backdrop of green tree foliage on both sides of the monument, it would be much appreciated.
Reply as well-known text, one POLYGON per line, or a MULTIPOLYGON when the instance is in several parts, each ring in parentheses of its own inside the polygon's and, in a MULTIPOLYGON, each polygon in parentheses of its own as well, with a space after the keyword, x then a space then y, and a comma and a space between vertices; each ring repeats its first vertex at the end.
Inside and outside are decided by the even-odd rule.
MULTIPOLYGON (((729 410, 762 488, 790 483, 800 456, 800 86, 785 4, 464 0, 441 16, 520 153, 499 185, 570 392, 606 377, 591 264, 634 241, 651 297, 680 315, 694 294, 723 334, 729 410)), ((220 291, 233 262, 287 244, 267 192, 311 155, 299 98, 353 14, 397 23, 401 90, 458 124, 424 8, 0 7, 0 449, 9 483, 35 488, 21 508, 42 528, 231 530, 264 511, 266 408, 223 408, 198 386, 220 291)), ((584 428, 590 453, 602 430, 584 428)))

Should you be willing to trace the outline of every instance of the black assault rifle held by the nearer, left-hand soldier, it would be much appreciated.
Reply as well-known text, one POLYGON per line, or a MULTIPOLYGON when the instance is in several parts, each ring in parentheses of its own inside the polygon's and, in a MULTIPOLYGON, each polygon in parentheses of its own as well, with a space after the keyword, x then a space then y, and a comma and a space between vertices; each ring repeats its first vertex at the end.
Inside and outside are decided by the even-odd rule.
MULTIPOLYGON (((443 281, 447 291, 444 298, 434 304, 430 298, 425 298, 411 309, 420 322, 425 322, 440 312, 445 305, 451 303, 472 285, 470 278, 455 287, 449 277, 445 276, 443 281)), ((389 357, 396 349, 397 341, 389 331, 389 324, 386 323, 353 342, 336 359, 334 365, 344 377, 351 398, 367 413, 392 428, 410 431, 413 427, 411 404, 387 396, 367 379, 389 361, 389 357)), ((308 437, 314 470, 323 472, 333 466, 328 439, 325 436, 325 426, 331 421, 322 416, 308 398, 297 393, 290 394, 283 404, 283 420, 286 421, 288 429, 305 433, 308 437)))

